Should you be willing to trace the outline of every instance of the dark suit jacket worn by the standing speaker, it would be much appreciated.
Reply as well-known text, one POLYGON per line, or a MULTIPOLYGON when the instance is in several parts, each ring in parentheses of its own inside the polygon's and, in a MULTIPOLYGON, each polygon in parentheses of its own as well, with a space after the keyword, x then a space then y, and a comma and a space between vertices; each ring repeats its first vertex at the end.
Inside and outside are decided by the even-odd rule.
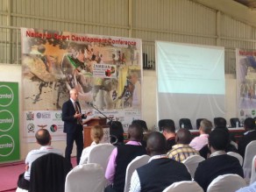
MULTIPOLYGON (((81 111, 80 104, 77 102, 78 108, 81 111)), ((73 133, 76 129, 82 130, 82 124, 77 124, 77 119, 74 117, 75 108, 72 101, 69 99, 62 105, 62 121, 64 121, 64 130, 66 133, 73 133)), ((86 116, 82 115, 82 118, 86 116)))

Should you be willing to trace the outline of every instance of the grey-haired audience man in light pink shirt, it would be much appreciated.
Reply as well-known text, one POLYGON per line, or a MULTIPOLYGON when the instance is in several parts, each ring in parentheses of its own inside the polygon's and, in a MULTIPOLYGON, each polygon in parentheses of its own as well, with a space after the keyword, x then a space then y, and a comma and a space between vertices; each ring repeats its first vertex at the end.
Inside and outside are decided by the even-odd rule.
POLYGON ((208 144, 208 137, 209 137, 209 133, 211 132, 211 129, 212 129, 211 122, 207 119, 203 119, 200 122, 200 127, 199 127, 200 136, 192 139, 189 146, 196 149, 196 151, 200 151, 203 148, 203 146, 208 144))

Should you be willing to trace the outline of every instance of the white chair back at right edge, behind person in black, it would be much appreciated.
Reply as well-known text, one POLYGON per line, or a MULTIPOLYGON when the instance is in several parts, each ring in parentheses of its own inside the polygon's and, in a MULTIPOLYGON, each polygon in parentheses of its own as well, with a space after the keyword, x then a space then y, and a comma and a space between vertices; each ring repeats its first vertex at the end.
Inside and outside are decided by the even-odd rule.
POLYGON ((245 147, 245 157, 244 157, 244 176, 246 180, 250 180, 251 178, 251 170, 252 170, 252 159, 256 154, 256 140, 252 140, 246 147, 245 147))

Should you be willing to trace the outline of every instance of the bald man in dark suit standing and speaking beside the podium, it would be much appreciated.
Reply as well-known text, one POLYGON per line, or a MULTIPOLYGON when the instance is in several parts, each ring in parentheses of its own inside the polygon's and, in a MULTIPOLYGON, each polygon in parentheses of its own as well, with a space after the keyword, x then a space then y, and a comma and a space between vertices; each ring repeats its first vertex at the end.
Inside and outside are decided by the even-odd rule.
POLYGON ((65 158, 71 162, 70 155, 72 153, 73 144, 76 144, 76 162, 79 165, 80 157, 83 149, 82 139, 82 118, 87 116, 82 114, 80 104, 77 101, 78 92, 76 89, 69 91, 70 99, 63 103, 62 121, 64 121, 64 132, 67 133, 67 146, 65 150, 65 158))

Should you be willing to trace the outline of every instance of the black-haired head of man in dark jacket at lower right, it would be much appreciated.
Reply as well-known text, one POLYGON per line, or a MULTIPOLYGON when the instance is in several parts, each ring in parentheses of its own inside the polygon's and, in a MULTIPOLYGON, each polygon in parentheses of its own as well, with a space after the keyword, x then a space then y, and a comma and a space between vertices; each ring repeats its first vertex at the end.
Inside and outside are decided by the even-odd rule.
POLYGON ((229 142, 230 139, 228 132, 225 132, 222 129, 214 129, 209 134, 208 146, 211 153, 220 150, 224 151, 226 146, 228 146, 229 142))

